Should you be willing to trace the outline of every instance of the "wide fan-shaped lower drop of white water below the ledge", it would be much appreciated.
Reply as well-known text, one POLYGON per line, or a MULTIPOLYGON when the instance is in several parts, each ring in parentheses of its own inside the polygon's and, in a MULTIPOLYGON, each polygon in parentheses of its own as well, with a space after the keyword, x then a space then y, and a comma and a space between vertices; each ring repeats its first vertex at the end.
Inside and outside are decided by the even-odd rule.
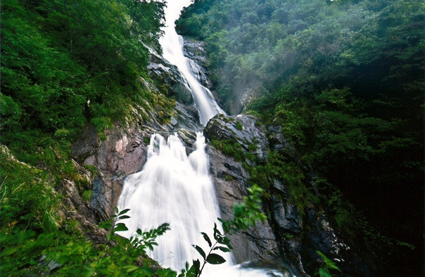
POLYGON ((177 136, 165 140, 159 134, 153 135, 146 165, 127 178, 118 201, 119 210, 131 209, 131 218, 125 221, 129 228, 125 236, 133 236, 137 228, 148 231, 170 224, 171 230, 157 239, 160 247, 149 256, 175 270, 183 269, 186 261, 198 259, 191 245, 205 247, 201 232, 212 230, 219 214, 204 148, 201 133, 189 157, 177 136))

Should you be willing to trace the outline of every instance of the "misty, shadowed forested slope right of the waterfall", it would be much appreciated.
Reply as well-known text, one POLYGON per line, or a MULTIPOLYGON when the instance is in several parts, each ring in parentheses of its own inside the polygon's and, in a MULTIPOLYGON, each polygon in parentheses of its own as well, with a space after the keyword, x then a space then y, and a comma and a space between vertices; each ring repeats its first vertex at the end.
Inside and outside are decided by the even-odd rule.
MULTIPOLYGON (((205 41, 224 107, 257 96, 246 110, 281 125, 340 226, 367 226, 378 252, 390 245, 393 275, 423 267, 424 14, 412 0, 198 0, 177 22, 205 41), (342 195, 369 224, 347 220, 342 195)), ((271 162, 286 167, 277 153, 271 162)))

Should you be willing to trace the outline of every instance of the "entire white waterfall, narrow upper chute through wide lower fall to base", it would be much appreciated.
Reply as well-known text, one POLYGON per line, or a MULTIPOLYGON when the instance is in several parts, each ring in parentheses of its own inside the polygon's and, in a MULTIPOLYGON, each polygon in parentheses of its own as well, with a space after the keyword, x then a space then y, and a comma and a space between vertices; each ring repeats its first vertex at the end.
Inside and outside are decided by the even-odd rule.
MULTIPOLYGON (((194 76, 189 59, 183 55, 182 37, 175 32, 174 22, 182 8, 189 4, 191 0, 172 0, 167 4, 167 27, 164 28, 165 35, 160 39, 160 44, 164 58, 176 65, 186 79, 201 124, 205 126, 211 117, 222 110, 210 91, 194 76)), ((153 135, 144 168, 127 177, 118 200, 119 210, 127 208, 130 209, 130 219, 125 224, 129 231, 124 236, 134 236, 138 228, 147 231, 165 222, 170 224, 171 230, 157 238, 158 247, 148 252, 162 266, 180 271, 186 262, 202 260, 192 245, 209 249, 201 232, 213 238, 213 226, 220 217, 215 189, 208 175, 203 134, 197 133, 196 150, 189 156, 176 135, 170 135, 167 139, 159 134, 153 135)), ((263 271, 251 269, 248 272, 239 266, 232 266, 229 253, 220 255, 227 263, 206 266, 203 276, 266 276, 263 271)))

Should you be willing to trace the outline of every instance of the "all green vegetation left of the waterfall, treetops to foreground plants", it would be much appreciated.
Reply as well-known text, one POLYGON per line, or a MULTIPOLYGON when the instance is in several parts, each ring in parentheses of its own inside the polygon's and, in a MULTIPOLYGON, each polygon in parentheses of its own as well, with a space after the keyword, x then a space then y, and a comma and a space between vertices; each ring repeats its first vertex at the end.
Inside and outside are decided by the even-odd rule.
POLYGON ((87 240, 89 230, 61 213, 61 193, 68 180, 90 198, 92 180, 70 157, 85 125, 102 134, 132 106, 174 105, 147 89, 147 47, 159 48, 163 8, 157 1, 1 1, 1 276, 151 270, 141 264, 143 251, 129 251, 114 230, 108 243, 87 240))

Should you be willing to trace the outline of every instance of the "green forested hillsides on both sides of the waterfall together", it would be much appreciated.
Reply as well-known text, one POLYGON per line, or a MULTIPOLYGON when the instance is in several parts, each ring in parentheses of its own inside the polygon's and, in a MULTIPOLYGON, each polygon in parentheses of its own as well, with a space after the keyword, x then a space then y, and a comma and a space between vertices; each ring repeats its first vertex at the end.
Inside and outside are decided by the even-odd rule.
MULTIPOLYGON (((172 122, 171 78, 158 82, 148 69, 164 8, 1 1, 0 275, 177 276, 146 258, 166 224, 134 243, 116 234, 126 211, 101 228, 99 217, 83 220, 77 207, 89 207, 103 173, 72 153, 90 130, 96 147, 110 143, 135 114, 172 122)), ((330 214, 338 235, 383 261, 383 276, 423 273, 424 26, 414 0, 194 0, 177 21, 204 41, 224 110, 279 125, 296 149, 299 163, 270 150, 250 168, 263 202, 279 179, 301 218, 307 206, 330 214)), ((209 143, 245 159, 234 141, 209 143)))

